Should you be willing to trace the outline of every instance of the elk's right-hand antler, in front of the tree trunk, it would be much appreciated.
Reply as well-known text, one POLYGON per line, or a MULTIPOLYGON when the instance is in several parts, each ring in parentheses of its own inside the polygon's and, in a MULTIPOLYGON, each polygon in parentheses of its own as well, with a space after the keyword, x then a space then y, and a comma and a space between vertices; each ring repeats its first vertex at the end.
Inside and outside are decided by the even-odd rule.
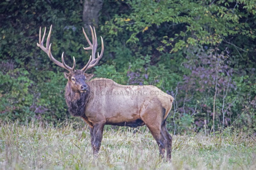
MULTIPOLYGON (((92 31, 92 27, 91 26, 90 26, 90 28, 91 28, 91 31, 92 31)), ((86 47, 84 49, 85 50, 92 50, 92 55, 90 56, 90 59, 89 59, 88 63, 84 66, 84 68, 81 69, 83 72, 85 72, 89 68, 94 67, 99 62, 99 60, 101 59, 101 57, 103 55, 103 52, 104 52, 103 39, 100 36, 101 44, 102 44, 101 45, 101 52, 100 52, 100 56, 99 56, 99 53, 98 53, 98 57, 97 57, 97 59, 95 59, 95 53, 96 53, 96 49, 97 49, 98 43, 97 43, 97 36, 96 36, 96 32, 95 32, 95 28, 94 27, 93 27, 93 30, 94 30, 94 34, 93 34, 93 31, 92 31, 92 43, 91 43, 91 41, 88 39, 86 33, 84 32, 84 28, 83 28, 84 36, 85 36, 86 40, 88 41, 88 43, 90 45, 89 47, 86 47), (95 35, 95 38, 94 38, 94 35, 95 35)))

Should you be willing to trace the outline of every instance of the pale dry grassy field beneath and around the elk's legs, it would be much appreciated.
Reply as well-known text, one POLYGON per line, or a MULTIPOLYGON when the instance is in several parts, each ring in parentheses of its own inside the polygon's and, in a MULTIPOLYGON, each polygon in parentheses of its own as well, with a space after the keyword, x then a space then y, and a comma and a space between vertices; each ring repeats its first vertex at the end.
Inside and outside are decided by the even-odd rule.
POLYGON ((256 141, 228 129, 215 136, 173 136, 172 162, 159 159, 146 127, 106 127, 97 159, 90 133, 79 123, 8 123, 0 120, 0 169, 256 169, 256 141))

